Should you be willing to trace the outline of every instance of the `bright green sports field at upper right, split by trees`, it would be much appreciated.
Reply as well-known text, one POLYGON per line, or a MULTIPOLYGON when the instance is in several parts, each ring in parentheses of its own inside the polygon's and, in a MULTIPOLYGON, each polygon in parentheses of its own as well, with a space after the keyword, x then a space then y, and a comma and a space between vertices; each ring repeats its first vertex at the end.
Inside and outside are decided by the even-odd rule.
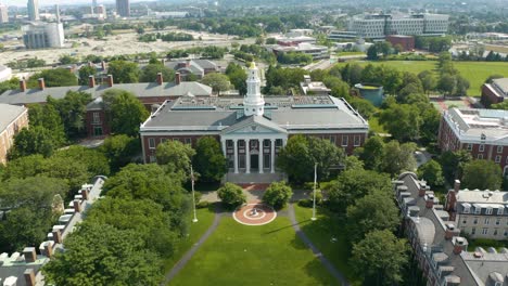
MULTIPOLYGON (((352 62, 348 62, 352 63, 352 62)), ((423 70, 433 70, 436 73, 436 64, 434 61, 385 61, 385 62, 366 62, 358 61, 361 65, 371 63, 373 65, 385 65, 394 67, 401 72, 409 72, 419 74, 423 70)), ((345 65, 346 63, 340 63, 345 65)), ((455 62, 454 66, 460 72, 465 78, 469 80, 470 87, 468 95, 480 96, 480 88, 487 77, 491 75, 503 75, 508 77, 508 63, 504 62, 455 62)))

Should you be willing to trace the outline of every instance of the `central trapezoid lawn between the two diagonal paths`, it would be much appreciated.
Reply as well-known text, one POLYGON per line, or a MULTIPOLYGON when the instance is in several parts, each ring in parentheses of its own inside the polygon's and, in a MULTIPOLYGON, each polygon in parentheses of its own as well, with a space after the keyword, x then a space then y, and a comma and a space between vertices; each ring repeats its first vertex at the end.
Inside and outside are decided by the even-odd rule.
POLYGON ((336 285, 336 282, 296 237, 288 218, 247 226, 225 217, 170 285, 336 285))

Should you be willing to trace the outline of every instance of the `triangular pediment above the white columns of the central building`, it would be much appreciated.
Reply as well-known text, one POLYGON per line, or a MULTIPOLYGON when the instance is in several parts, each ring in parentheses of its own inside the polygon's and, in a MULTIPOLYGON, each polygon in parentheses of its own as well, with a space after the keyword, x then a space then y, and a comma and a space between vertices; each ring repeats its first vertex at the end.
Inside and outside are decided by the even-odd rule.
POLYGON ((225 130, 223 134, 277 134, 288 133, 288 131, 277 123, 262 117, 262 116, 250 116, 245 119, 232 125, 225 130))

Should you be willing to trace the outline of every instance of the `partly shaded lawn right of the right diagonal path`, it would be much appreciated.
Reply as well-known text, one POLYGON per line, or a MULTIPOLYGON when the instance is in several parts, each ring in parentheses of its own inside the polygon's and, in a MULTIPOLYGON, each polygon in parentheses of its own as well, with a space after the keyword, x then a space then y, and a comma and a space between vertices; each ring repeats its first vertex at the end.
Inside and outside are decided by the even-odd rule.
POLYGON ((347 264, 350 247, 346 242, 344 221, 321 208, 318 208, 316 221, 310 220, 312 208, 294 205, 294 211, 296 221, 301 223, 300 226, 325 257, 347 277, 352 285, 361 285, 360 280, 353 274, 347 264))

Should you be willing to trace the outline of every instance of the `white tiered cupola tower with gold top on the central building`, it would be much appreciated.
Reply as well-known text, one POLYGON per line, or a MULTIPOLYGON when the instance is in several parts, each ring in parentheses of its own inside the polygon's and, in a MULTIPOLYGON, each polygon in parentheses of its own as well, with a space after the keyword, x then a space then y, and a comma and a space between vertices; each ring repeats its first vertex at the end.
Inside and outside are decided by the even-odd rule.
POLYGON ((256 64, 252 62, 247 75, 247 93, 243 98, 243 112, 245 116, 263 116, 265 113, 265 99, 261 94, 261 79, 256 64))

